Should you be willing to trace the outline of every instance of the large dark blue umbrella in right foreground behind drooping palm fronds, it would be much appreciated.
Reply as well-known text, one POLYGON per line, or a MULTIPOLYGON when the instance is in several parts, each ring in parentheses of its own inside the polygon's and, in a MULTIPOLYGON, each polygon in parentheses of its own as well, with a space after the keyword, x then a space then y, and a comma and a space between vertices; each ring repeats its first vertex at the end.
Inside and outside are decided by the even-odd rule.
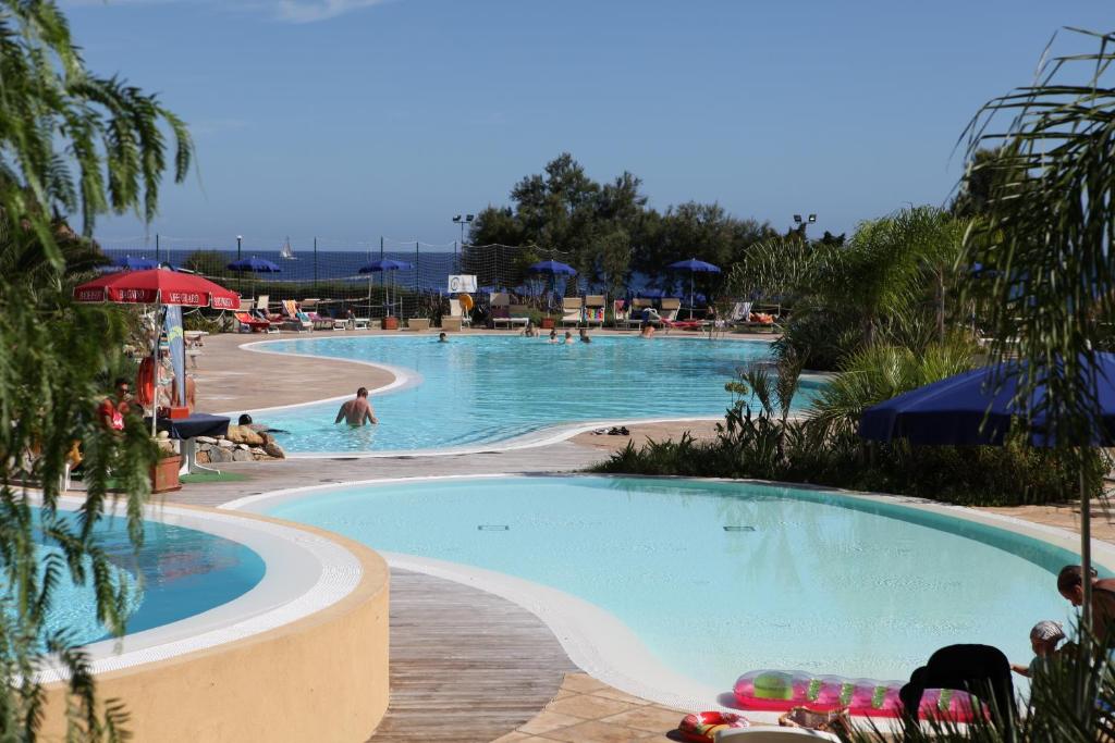
MULTIPOLYGON (((1082 361, 1085 361, 1082 358, 1082 361)), ((1038 370, 1038 380, 1043 379, 1038 370)), ((1026 411, 1015 400, 1017 364, 986 366, 911 390, 863 411, 860 436, 874 441, 906 439, 915 444, 1002 446, 1012 419, 1026 411)), ((1080 379, 1088 388, 1097 416, 1096 426, 1079 441, 1057 441, 1047 416, 1041 411, 1047 390, 1037 384, 1028 408, 1027 437, 1031 446, 1111 447, 1115 446, 1115 353, 1096 353, 1082 364, 1080 379)), ((1084 613, 1089 623, 1092 585, 1090 506, 1080 478, 1080 564, 1085 573, 1084 613)))

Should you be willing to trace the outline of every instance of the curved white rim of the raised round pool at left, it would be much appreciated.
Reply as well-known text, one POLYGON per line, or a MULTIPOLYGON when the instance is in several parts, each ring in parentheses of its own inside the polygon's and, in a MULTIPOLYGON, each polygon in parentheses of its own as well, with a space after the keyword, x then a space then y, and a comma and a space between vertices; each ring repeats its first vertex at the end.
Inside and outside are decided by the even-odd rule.
MULTIPOLYGON (((83 502, 81 498, 64 497, 59 508, 74 510, 83 502)), ((124 504, 117 504, 114 517, 125 518, 123 509, 124 504)), ((146 506, 144 519, 239 542, 263 559, 265 571, 253 588, 231 602, 85 646, 94 673, 166 661, 277 629, 337 604, 363 576, 360 559, 340 544, 292 526, 212 509, 159 505, 146 506)), ((49 683, 65 678, 66 673, 48 662, 38 677, 49 683)))

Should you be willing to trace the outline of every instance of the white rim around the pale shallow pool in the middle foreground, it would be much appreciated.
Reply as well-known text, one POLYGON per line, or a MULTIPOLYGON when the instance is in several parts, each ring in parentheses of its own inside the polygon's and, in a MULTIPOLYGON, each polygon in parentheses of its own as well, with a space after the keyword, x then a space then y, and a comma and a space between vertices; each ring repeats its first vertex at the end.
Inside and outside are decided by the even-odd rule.
MULTIPOLYGON (((1055 547, 1068 549, 1076 554, 1080 538, 1065 529, 1041 524, 1025 521, 1011 516, 978 511, 962 506, 939 504, 908 496, 891 496, 885 493, 857 492, 789 482, 772 482, 766 480, 730 480, 724 478, 677 478, 677 477, 640 477, 609 475, 553 475, 531 476, 521 473, 413 477, 413 478, 378 478, 371 480, 355 480, 301 488, 273 490, 240 498, 221 506, 221 509, 246 510, 264 512, 266 508, 280 502, 297 500, 311 492, 323 492, 351 487, 378 487, 388 485, 406 485, 432 481, 459 481, 477 479, 503 479, 522 477, 621 477, 624 479, 646 479, 649 481, 683 481, 683 482, 730 482, 740 485, 760 485, 821 491, 837 498, 878 501, 896 505, 914 510, 940 514, 960 520, 973 521, 1006 531, 1012 531, 1055 547)), ((1092 540, 1093 559, 1099 565, 1115 567, 1115 545, 1096 539, 1092 540)), ((561 643, 570 659, 590 674, 622 692, 656 702, 666 706, 688 711, 721 708, 739 711, 731 706, 730 690, 717 690, 683 676, 658 662, 642 641, 626 624, 610 612, 591 604, 572 594, 544 586, 503 573, 486 570, 472 566, 449 563, 415 555, 397 553, 380 553, 391 567, 416 573, 424 573, 455 583, 473 586, 495 594, 534 614, 545 624, 561 643)), ((1053 590, 1053 583, 1050 583, 1053 590)), ((740 668, 744 673, 748 668, 740 668)), ((776 722, 777 713, 745 711, 747 716, 759 722, 776 722)))

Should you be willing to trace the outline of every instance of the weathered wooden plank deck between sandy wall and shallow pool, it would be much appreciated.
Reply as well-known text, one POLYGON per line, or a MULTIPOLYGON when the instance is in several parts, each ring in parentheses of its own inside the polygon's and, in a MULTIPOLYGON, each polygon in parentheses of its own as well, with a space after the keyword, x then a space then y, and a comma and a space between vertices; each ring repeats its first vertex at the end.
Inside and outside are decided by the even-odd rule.
POLYGON ((391 701, 375 743, 494 741, 532 720, 575 671, 526 609, 391 570, 391 701))

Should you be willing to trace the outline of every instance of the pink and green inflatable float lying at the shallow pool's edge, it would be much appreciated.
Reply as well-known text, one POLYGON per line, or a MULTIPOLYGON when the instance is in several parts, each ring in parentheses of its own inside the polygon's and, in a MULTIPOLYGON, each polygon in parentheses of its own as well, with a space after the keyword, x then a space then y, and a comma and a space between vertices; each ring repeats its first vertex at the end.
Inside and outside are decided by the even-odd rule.
MULTIPOLYGON (((904 682, 817 676, 803 671, 752 671, 736 681, 736 702, 744 710, 785 712, 805 706, 817 712, 847 707, 849 714, 898 717, 899 690, 904 682)), ((951 688, 925 690, 918 714, 922 718, 969 722, 973 700, 951 688)))

